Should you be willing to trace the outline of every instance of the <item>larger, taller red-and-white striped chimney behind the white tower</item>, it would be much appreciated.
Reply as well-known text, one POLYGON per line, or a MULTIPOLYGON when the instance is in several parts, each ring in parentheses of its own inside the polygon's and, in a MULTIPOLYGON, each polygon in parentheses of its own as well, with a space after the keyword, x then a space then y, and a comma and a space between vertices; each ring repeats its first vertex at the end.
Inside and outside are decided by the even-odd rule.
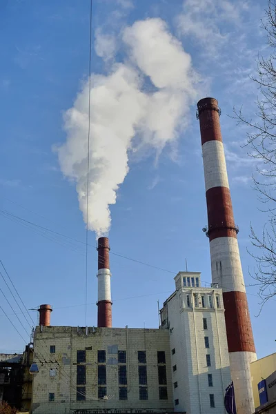
POLYGON ((237 414, 255 411, 250 362, 257 359, 237 244, 217 99, 197 103, 208 212, 212 282, 223 290, 230 373, 237 414))

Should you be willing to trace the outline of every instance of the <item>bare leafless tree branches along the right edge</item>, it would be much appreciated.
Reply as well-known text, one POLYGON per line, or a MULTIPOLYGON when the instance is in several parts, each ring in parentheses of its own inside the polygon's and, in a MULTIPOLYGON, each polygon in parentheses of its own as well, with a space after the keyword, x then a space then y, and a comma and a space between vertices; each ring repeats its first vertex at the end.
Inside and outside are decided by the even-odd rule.
POLYGON ((250 252, 250 255, 256 262, 251 275, 264 306, 276 295, 276 0, 268 0, 262 28, 269 55, 258 57, 257 76, 251 77, 259 88, 255 118, 244 117, 242 108, 234 108, 234 112, 237 123, 248 127, 246 145, 250 148, 250 157, 259 161, 253 186, 267 219, 262 234, 257 234, 251 226, 250 239, 257 253, 250 252))

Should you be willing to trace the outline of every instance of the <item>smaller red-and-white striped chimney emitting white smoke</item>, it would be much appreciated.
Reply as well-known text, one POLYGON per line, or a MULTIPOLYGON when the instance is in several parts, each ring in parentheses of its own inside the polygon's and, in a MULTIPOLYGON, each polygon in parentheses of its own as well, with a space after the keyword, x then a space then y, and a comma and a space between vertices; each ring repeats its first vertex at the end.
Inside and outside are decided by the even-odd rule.
POLYGON ((98 327, 112 327, 111 290, 109 270, 109 240, 108 237, 98 239, 98 327))

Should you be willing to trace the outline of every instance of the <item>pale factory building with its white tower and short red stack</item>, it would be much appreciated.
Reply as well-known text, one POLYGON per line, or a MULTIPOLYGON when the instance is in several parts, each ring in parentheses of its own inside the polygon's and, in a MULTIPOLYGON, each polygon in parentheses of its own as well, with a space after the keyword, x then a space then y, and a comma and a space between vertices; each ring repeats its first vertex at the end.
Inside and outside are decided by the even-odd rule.
POLYGON ((42 305, 32 413, 224 413, 231 380, 222 291, 201 288, 200 273, 175 277, 159 329, 45 326, 49 315, 42 305))

